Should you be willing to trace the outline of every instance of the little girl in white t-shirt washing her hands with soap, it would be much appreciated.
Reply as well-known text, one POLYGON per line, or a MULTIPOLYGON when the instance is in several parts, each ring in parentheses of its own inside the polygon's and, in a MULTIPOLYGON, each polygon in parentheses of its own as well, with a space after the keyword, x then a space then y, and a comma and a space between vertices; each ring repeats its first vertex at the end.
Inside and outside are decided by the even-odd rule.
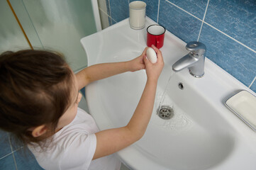
POLYGON ((162 53, 152 64, 142 55, 128 62, 95 64, 74 74, 61 55, 41 50, 0 56, 0 128, 13 133, 43 169, 120 169, 113 153, 141 137, 150 121, 162 53), (80 108, 79 90, 92 81, 145 69, 147 82, 128 125, 99 131, 80 108))

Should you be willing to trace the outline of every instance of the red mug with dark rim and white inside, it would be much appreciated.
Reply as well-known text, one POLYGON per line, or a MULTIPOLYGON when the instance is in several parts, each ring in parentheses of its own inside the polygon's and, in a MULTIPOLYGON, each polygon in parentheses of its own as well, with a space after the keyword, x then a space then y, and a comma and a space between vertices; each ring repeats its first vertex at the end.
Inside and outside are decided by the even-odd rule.
POLYGON ((158 49, 164 45, 165 27, 160 25, 151 25, 147 28, 147 45, 155 45, 158 49))

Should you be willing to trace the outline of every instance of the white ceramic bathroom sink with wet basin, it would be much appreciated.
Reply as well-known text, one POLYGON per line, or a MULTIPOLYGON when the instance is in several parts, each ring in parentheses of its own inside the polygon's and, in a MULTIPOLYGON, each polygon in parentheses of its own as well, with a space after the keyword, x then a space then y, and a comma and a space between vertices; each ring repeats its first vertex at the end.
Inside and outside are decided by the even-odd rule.
MULTIPOLYGON (((146 47, 146 28, 151 24, 155 22, 146 17, 145 28, 133 30, 126 19, 82 38, 88 65, 138 57, 146 47)), ((194 78, 188 69, 174 73, 172 64, 188 53, 185 45, 169 31, 165 33, 160 49, 165 67, 148 129, 116 156, 130 169, 256 169, 256 133, 224 104, 238 91, 255 93, 208 60, 207 52, 204 77, 194 78), (169 120, 157 115, 160 101, 173 111, 169 120)), ((127 125, 146 78, 145 70, 126 72, 86 87, 89 113, 100 130, 127 125)))

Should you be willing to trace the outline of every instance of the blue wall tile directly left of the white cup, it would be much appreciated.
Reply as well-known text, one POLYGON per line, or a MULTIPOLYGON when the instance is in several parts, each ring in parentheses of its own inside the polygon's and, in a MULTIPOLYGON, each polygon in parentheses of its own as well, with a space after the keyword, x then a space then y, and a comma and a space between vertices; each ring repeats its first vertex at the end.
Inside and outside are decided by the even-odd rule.
POLYGON ((109 0, 109 3, 111 18, 113 18, 116 22, 123 21, 129 17, 128 0, 109 0))

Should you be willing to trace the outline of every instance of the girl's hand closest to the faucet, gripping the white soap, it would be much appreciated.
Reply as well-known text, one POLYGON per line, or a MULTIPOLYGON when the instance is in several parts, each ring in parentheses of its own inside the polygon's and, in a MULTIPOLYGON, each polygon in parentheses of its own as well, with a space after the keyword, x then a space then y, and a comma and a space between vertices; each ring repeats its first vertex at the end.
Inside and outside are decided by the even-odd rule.
POLYGON ((150 62, 150 60, 147 59, 145 55, 143 57, 143 61, 145 63, 145 69, 148 76, 148 80, 157 81, 158 77, 162 72, 162 68, 165 65, 165 62, 162 58, 162 52, 158 50, 157 47, 155 47, 154 45, 152 45, 152 48, 157 53, 157 62, 153 64, 152 62, 150 62))

